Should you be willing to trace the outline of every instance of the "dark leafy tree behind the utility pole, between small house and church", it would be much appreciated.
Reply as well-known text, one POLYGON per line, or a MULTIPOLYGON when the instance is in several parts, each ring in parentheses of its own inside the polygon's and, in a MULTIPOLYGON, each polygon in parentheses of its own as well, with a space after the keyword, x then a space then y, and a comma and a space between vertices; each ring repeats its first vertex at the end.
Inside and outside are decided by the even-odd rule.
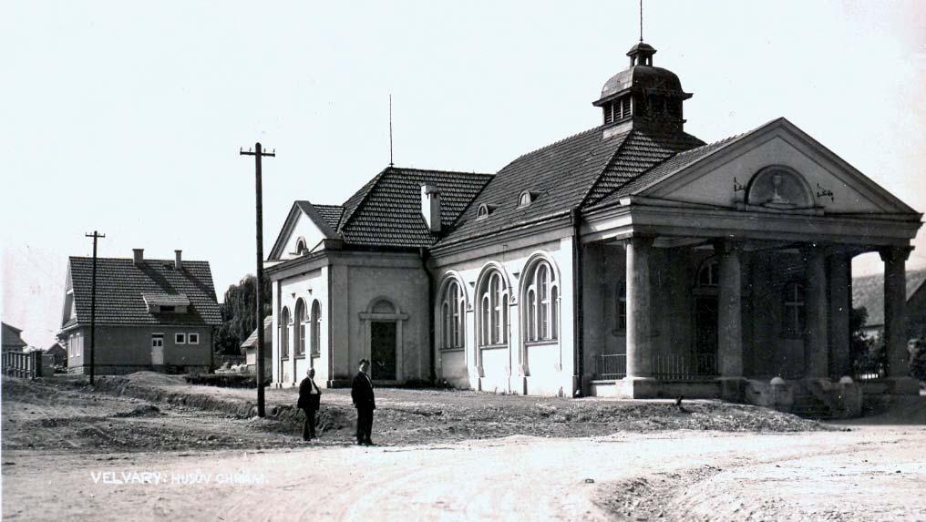
MULTIPOLYGON (((219 306, 222 324, 216 332, 217 354, 241 354, 241 343, 257 328, 256 287, 257 278, 248 274, 241 282, 229 286, 229 289, 225 291, 225 298, 219 306)), ((267 317, 272 310, 269 280, 264 280, 261 298, 264 304, 264 317, 267 317)))

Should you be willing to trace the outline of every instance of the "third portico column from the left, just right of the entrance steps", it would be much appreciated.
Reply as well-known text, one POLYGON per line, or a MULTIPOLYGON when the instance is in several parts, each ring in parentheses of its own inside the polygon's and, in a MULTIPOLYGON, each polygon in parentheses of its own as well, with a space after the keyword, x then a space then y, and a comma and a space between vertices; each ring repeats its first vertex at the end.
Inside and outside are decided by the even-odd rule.
POLYGON ((821 379, 828 377, 830 373, 826 257, 820 245, 807 248, 804 254, 807 259, 807 340, 804 347, 807 371, 804 376, 809 379, 821 379))

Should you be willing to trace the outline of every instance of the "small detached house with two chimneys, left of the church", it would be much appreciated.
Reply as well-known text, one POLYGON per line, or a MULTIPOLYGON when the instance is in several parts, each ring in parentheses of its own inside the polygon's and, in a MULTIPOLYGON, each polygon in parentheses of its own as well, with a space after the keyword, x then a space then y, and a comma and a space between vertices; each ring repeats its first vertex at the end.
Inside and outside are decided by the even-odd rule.
MULTIPOLYGON (((96 261, 95 371, 207 371, 213 327, 221 322, 206 261, 96 261)), ((66 338, 69 372, 90 371, 93 259, 70 257, 59 337, 66 338)))

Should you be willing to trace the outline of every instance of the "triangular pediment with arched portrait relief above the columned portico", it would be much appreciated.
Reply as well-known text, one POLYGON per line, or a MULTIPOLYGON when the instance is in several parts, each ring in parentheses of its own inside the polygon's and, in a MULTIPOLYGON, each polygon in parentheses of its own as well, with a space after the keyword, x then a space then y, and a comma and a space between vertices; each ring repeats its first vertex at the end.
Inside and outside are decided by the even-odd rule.
POLYGON ((632 195, 769 212, 917 214, 784 118, 705 147, 672 158, 632 195))

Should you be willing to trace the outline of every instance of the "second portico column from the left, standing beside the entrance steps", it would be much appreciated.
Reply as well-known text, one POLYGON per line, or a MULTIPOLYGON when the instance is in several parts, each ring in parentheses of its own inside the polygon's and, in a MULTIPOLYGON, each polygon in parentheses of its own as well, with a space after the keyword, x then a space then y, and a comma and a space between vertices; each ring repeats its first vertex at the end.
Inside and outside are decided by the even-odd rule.
POLYGON ((740 245, 717 242, 720 295, 717 313, 717 356, 720 377, 743 377, 743 282, 740 245))

